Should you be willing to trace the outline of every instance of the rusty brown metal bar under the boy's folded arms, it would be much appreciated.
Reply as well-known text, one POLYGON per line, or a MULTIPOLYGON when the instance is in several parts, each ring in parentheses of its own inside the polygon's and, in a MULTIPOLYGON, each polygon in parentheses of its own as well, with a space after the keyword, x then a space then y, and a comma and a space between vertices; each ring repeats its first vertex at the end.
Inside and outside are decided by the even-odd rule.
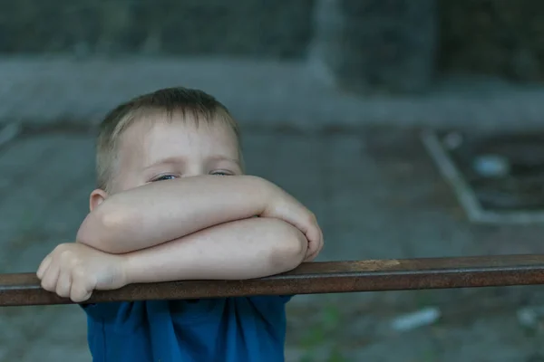
MULTIPOLYGON (((169 281, 96 291, 88 302, 544 284, 544 255, 313 262, 248 281, 169 281)), ((0 274, 0 306, 68 304, 34 273, 0 274)))

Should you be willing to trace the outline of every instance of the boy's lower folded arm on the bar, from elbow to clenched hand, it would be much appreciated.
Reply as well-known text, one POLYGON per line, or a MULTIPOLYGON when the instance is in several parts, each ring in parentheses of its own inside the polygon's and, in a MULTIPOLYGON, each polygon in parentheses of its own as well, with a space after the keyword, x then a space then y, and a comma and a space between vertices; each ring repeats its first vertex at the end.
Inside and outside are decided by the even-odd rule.
POLYGON ((277 219, 253 218, 126 254, 63 243, 44 258, 37 276, 46 291, 83 302, 92 291, 131 283, 274 275, 296 268, 306 247, 306 237, 296 227, 277 219))

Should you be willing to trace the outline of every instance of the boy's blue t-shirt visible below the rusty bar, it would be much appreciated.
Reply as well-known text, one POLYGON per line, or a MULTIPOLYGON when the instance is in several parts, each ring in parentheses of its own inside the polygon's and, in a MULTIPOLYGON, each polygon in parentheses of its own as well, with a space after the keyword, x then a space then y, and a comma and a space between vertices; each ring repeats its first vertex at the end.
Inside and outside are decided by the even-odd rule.
POLYGON ((94 362, 277 362, 284 360, 287 300, 147 300, 83 310, 94 362))

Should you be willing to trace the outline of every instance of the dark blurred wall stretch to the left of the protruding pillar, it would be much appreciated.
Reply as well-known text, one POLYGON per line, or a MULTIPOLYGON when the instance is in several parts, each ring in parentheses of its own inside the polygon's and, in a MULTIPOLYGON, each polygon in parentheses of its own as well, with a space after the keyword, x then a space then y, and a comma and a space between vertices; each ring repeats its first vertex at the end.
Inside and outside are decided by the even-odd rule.
POLYGON ((313 0, 0 2, 0 53, 300 58, 313 0))

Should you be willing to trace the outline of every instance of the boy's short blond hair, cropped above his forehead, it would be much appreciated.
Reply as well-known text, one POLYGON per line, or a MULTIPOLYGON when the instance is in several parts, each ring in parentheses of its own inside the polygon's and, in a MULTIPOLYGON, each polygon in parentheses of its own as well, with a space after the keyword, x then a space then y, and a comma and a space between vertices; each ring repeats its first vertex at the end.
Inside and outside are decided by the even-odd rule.
MULTIPOLYGON (((196 122, 226 123, 236 134, 239 143, 238 123, 232 118, 219 100, 202 90, 191 90, 182 87, 166 88, 143 94, 129 100, 110 111, 102 120, 96 144, 97 187, 111 190, 114 166, 118 154, 119 140, 123 132, 135 121, 152 119, 146 117, 157 113, 192 116, 196 122)), ((198 123, 197 123, 198 125, 198 123)))

